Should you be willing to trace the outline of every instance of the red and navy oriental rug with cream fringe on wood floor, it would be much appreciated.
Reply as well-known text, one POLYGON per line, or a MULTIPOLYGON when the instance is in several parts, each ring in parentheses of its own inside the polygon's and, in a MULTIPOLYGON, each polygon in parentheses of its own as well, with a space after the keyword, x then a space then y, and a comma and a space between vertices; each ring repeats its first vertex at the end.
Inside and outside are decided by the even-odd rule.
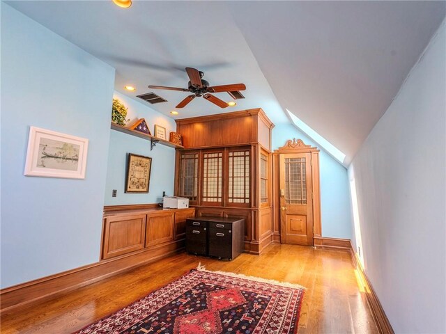
POLYGON ((76 333, 297 333, 304 289, 199 265, 76 333))

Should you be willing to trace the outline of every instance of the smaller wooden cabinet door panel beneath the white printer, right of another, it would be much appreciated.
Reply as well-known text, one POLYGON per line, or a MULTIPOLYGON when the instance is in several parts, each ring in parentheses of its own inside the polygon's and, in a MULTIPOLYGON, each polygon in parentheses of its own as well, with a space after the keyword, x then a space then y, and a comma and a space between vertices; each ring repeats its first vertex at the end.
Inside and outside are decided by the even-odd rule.
POLYGON ((174 239, 174 212, 147 216, 146 247, 153 247, 174 239))

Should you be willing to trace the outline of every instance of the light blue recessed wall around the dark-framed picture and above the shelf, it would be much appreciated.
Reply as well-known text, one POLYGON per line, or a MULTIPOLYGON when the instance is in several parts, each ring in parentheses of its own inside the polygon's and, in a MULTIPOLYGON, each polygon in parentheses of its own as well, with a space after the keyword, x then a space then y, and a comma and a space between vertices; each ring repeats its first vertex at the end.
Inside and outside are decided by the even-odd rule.
MULTIPOLYGON (((118 92, 114 97, 128 107, 128 118, 132 124, 139 118, 144 118, 153 134, 155 124, 166 128, 169 132, 175 131, 176 123, 169 117, 154 111, 143 103, 134 101, 118 92)), ((175 175, 175 149, 157 144, 151 151, 151 142, 143 138, 113 131, 110 133, 109 160, 107 163, 107 185, 105 188, 105 205, 125 205, 156 203, 162 199, 162 191, 167 195, 174 195, 175 175), (152 158, 151 180, 148 193, 124 193, 125 170, 127 153, 144 155, 152 158), (112 197, 112 190, 116 189, 118 195, 112 197)))

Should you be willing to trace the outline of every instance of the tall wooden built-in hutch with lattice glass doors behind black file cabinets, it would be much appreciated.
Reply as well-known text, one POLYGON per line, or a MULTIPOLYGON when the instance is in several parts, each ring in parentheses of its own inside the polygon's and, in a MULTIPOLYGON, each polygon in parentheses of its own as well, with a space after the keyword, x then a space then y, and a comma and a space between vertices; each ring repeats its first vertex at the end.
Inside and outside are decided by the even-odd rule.
POLYGON ((176 120, 175 195, 196 216, 245 218, 245 252, 273 241, 271 130, 261 109, 176 120))

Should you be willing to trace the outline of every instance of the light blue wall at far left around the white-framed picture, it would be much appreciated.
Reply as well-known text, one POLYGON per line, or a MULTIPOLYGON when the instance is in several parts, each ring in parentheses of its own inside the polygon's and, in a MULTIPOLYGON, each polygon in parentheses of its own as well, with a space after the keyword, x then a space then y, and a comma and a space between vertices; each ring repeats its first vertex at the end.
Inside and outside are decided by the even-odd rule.
POLYGON ((113 87, 112 67, 1 3, 1 287, 98 261, 113 87), (89 138, 86 178, 25 177, 31 125, 89 138))

